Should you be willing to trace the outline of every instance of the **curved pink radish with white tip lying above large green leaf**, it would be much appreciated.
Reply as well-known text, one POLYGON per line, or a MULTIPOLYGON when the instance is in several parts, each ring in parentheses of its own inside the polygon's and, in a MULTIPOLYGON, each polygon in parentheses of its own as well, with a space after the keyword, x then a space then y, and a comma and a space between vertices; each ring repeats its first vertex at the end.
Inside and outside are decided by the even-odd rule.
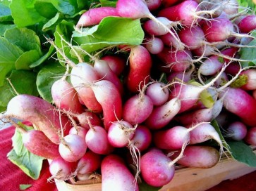
POLYGON ((88 11, 83 13, 83 15, 81 15, 75 27, 79 28, 79 27, 98 25, 103 18, 106 18, 109 16, 116 16, 116 17, 119 16, 116 11, 116 8, 107 7, 107 6, 90 8, 88 11))

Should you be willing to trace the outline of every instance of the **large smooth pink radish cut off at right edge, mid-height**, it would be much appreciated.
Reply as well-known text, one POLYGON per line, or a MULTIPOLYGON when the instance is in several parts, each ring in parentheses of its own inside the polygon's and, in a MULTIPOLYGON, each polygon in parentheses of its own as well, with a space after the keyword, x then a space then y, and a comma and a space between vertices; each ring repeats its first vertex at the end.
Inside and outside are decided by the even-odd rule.
POLYGON ((245 125, 256 126, 256 100, 252 95, 241 88, 228 87, 219 94, 222 96, 226 110, 240 117, 245 125))

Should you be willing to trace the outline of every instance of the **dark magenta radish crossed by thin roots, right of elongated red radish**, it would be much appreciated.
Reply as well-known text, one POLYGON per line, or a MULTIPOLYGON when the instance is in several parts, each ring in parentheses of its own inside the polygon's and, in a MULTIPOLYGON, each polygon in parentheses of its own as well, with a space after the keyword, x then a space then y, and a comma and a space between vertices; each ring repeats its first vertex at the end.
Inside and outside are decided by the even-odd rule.
POLYGON ((173 48, 164 47, 157 57, 164 62, 166 67, 174 72, 183 72, 192 64, 192 53, 185 49, 183 51, 173 50, 173 48))

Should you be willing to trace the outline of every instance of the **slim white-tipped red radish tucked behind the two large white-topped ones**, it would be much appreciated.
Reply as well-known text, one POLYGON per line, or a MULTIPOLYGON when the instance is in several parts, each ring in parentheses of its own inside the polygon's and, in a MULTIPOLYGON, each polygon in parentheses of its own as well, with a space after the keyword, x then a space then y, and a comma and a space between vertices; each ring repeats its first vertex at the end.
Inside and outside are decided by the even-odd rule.
POLYGON ((121 93, 121 95, 123 95, 123 84, 117 75, 111 70, 106 61, 95 60, 94 68, 99 74, 100 79, 111 81, 116 86, 116 88, 118 88, 118 91, 121 93))

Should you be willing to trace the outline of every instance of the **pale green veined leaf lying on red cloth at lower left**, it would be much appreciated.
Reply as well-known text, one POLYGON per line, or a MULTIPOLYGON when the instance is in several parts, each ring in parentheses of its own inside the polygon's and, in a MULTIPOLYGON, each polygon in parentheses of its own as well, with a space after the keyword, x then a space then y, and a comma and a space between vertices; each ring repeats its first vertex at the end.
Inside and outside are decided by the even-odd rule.
POLYGON ((16 129, 12 141, 13 149, 8 152, 8 159, 32 179, 37 180, 42 169, 44 158, 32 154, 24 147, 22 133, 20 133, 18 129, 16 129))

